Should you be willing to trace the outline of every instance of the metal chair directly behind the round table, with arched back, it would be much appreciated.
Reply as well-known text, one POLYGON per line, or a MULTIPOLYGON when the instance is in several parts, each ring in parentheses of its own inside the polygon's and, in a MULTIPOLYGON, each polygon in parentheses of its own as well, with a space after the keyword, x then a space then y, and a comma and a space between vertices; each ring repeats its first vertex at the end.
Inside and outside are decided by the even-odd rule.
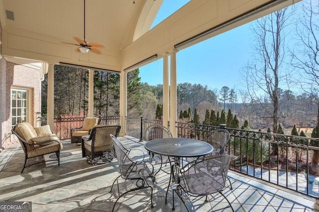
MULTIPOLYGON (((146 136, 146 141, 158 139, 158 138, 172 138, 172 134, 169 131, 169 129, 161 124, 152 124, 145 130, 145 136, 146 136)), ((161 156, 161 155, 154 155, 154 154, 149 154, 150 158, 152 161, 155 162, 155 164, 165 164, 168 162, 168 157, 166 156, 161 156)), ((165 170, 163 170, 162 165, 160 166, 160 169, 156 172, 159 173, 160 170, 163 172, 169 174, 165 170)))

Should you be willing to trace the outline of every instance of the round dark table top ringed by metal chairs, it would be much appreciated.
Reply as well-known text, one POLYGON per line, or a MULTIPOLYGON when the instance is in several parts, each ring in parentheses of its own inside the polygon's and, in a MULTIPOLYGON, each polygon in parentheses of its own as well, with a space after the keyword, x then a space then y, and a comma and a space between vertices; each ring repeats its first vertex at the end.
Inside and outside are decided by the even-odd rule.
POLYGON ((148 141, 145 148, 155 154, 169 157, 198 157, 211 153, 213 146, 190 138, 159 138, 148 141))

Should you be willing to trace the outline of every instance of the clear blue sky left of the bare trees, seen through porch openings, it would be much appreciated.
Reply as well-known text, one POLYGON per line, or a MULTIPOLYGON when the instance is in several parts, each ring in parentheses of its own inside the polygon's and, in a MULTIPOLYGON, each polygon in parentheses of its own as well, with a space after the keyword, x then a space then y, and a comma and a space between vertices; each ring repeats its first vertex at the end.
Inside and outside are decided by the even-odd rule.
MULTIPOLYGON (((187 2, 188 0, 163 0, 152 27, 187 2)), ((242 87, 243 83, 240 83, 243 80, 240 70, 248 63, 252 54, 249 25, 245 24, 177 52, 177 84, 201 84, 217 91, 223 86, 236 91, 245 89, 242 87)), ((162 63, 162 59, 159 59, 141 67, 141 82, 149 85, 162 84, 162 63)))

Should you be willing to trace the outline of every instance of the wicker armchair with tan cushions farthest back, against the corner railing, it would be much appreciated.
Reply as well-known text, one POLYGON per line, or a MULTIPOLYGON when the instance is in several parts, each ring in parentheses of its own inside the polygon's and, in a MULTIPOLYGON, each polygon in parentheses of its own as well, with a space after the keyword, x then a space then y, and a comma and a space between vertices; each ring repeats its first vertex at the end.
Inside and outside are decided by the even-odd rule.
POLYGON ((100 124, 100 122, 101 118, 98 117, 84 118, 82 126, 71 128, 71 143, 81 143, 82 136, 89 135, 92 128, 100 124))

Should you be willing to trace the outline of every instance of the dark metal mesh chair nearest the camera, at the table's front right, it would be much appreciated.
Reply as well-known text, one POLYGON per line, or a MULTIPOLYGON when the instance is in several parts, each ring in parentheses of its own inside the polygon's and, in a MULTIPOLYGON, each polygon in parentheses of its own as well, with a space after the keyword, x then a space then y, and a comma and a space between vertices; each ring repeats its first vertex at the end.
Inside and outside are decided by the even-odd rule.
MULTIPOLYGON (((185 192, 188 196, 198 197, 208 196, 219 193, 222 195, 229 206, 223 208, 232 208, 228 199, 223 195, 222 191, 225 189, 225 183, 227 180, 228 167, 231 160, 236 159, 233 155, 216 155, 209 158, 204 158, 203 160, 194 160, 188 163, 184 167, 180 168, 178 165, 173 165, 175 172, 173 172, 173 180, 177 186, 173 189, 173 211, 174 209, 174 193, 177 194, 183 205, 187 208, 184 200, 182 199, 182 194, 185 192)), ((219 211, 222 209, 215 209, 214 211, 219 211)), ((196 209, 193 209, 194 211, 196 209)))

